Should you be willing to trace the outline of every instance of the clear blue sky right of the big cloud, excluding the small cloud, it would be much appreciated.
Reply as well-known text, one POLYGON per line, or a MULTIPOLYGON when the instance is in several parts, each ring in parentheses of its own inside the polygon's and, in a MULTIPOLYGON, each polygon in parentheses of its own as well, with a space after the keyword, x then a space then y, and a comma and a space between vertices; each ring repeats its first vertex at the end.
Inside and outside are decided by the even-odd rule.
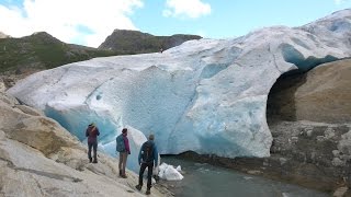
POLYGON ((351 8, 351 1, 332 0, 203 0, 211 13, 197 19, 165 18, 162 0, 145 3, 132 15, 134 24, 157 35, 203 34, 223 38, 271 25, 299 26, 333 11, 351 8), (339 3, 338 3, 339 2, 339 3))

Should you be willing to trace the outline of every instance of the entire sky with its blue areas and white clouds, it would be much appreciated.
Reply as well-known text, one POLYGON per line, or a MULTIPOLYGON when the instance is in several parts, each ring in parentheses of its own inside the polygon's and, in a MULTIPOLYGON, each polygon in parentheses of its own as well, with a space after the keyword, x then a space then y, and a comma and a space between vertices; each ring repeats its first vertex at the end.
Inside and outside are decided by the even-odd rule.
POLYGON ((267 26, 301 26, 350 8, 351 0, 0 0, 0 32, 47 32, 91 47, 116 28, 233 38, 267 26))

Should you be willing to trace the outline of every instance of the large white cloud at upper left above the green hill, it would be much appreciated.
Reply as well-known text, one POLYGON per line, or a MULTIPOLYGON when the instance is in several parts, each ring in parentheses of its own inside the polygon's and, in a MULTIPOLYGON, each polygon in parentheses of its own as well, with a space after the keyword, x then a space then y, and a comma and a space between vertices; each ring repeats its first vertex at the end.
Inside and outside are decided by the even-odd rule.
POLYGON ((115 28, 136 30, 128 15, 141 7, 141 0, 24 0, 22 10, 0 4, 0 31, 13 37, 45 31, 98 47, 115 28))

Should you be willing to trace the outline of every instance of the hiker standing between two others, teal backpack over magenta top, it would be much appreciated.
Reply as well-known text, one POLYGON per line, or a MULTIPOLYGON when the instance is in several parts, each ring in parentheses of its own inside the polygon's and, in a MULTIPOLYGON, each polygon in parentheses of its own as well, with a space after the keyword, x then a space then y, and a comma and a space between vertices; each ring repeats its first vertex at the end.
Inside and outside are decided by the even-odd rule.
POLYGON ((125 166, 127 164, 127 158, 128 154, 131 154, 131 148, 129 148, 129 140, 127 138, 128 129, 123 128, 122 134, 117 138, 123 138, 124 149, 120 151, 120 162, 118 162, 118 169, 120 169, 120 176, 123 178, 127 178, 127 175, 125 174, 125 166))

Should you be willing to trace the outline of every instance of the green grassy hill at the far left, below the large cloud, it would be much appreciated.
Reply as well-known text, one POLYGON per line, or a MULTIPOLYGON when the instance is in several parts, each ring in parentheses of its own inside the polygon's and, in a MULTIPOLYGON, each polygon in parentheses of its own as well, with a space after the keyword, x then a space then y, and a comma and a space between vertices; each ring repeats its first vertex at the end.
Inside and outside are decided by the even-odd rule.
POLYGON ((61 65, 118 55, 63 43, 46 33, 37 33, 22 38, 0 39, 0 72, 25 69, 50 69, 61 65))

